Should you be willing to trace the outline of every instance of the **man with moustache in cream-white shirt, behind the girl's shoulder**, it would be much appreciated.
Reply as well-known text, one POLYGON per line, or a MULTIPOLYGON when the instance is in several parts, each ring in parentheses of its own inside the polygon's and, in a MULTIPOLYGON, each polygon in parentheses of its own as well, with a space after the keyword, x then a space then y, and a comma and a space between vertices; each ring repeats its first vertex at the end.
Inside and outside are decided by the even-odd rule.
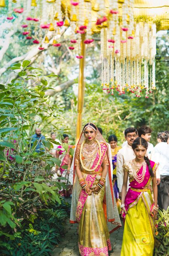
MULTIPOLYGON (((119 197, 121 197, 121 189, 123 185, 123 165, 125 162, 130 161, 135 158, 133 149, 131 145, 133 144, 134 139, 137 138, 137 129, 129 127, 124 131, 125 139, 127 140, 127 145, 122 147, 117 153, 117 165, 116 165, 116 176, 117 183, 119 188, 119 197)), ((129 180, 127 184, 127 190, 129 188, 129 180)))

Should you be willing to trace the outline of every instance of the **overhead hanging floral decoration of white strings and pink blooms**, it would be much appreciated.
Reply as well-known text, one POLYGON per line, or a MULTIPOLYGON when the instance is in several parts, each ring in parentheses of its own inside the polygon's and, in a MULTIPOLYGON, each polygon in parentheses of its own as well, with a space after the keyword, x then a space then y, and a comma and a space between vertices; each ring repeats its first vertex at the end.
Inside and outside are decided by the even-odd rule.
MULTIPOLYGON (((6 5, 0 0, 0 7, 6 5)), ((81 35, 84 44, 91 44, 92 34, 100 33, 103 90, 140 97, 145 89, 148 98, 155 89, 156 26, 136 22, 133 5, 134 0, 8 0, 7 19, 22 15, 21 33, 39 50, 49 44, 49 33, 54 35, 53 47, 60 47, 62 28, 70 27, 69 50, 78 59, 83 58, 81 35)))

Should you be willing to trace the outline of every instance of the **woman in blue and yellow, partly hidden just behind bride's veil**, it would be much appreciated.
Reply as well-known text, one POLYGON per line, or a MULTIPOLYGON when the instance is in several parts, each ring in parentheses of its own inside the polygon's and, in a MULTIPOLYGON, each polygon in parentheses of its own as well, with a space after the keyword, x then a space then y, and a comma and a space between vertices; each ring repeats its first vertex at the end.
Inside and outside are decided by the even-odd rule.
POLYGON ((112 153, 112 164, 113 164, 113 189, 115 192, 115 198, 116 198, 116 204, 118 207, 118 212, 120 214, 121 209, 120 209, 120 205, 121 205, 121 200, 119 199, 119 189, 118 189, 118 185, 117 185, 117 176, 116 176, 116 162, 117 162, 117 153, 119 151, 119 149, 121 149, 120 146, 117 145, 118 141, 117 141, 117 137, 116 135, 110 135, 108 138, 110 147, 111 147, 111 153, 112 153))

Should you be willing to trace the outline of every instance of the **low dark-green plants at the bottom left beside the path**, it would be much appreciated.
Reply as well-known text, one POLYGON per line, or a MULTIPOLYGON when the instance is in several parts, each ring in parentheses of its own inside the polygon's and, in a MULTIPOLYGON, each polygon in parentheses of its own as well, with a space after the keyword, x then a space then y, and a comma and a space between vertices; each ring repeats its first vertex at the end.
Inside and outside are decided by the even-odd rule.
POLYGON ((48 256, 52 252, 53 245, 59 244, 65 232, 69 204, 63 199, 61 201, 60 205, 50 204, 48 205, 50 209, 39 211, 38 218, 21 227, 15 239, 3 236, 3 241, 0 243, 1 255, 48 256))

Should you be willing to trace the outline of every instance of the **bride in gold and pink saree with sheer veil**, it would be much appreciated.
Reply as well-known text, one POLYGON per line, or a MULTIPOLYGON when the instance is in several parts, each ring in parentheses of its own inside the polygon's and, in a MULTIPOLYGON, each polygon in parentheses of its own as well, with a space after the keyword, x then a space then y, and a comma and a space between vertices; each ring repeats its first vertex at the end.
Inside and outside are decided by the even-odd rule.
POLYGON ((84 126, 75 151, 70 223, 79 223, 81 256, 108 256, 109 233, 121 226, 107 144, 97 127, 84 126))

